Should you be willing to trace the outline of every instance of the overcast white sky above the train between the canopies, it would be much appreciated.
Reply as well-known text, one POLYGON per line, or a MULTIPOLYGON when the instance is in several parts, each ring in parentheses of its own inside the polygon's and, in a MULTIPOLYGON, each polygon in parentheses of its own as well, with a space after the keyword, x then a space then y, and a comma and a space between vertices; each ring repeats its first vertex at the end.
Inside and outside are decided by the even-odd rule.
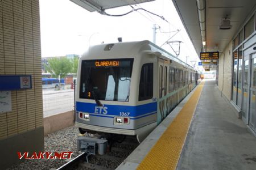
MULTIPOLYGON (((153 25, 156 24, 156 45, 164 42, 180 29, 172 41, 182 41, 178 58, 186 61, 199 61, 187 32, 180 21, 172 1, 156 0, 133 5, 144 8, 165 20, 144 11, 134 11, 125 16, 106 16, 89 12, 69 0, 39 0, 42 57, 65 56, 84 53, 90 45, 122 41, 153 41, 153 25)), ((130 6, 106 10, 108 14, 124 14, 132 10, 130 6)), ((175 50, 177 44, 172 46, 175 50)), ((162 48, 175 55, 170 45, 162 48)), ((195 63, 195 62, 192 62, 195 63)), ((191 64, 191 63, 189 63, 191 64)))

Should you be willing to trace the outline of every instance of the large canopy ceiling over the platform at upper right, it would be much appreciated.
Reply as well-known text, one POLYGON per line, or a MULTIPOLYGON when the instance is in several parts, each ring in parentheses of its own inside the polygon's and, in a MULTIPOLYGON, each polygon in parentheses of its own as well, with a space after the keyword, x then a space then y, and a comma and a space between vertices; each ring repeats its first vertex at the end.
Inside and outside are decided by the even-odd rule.
POLYGON ((255 0, 172 0, 172 2, 198 56, 203 52, 203 41, 206 44, 206 52, 224 52, 243 23, 249 19, 256 5, 255 0), (197 6, 197 3, 203 5, 202 9, 197 6), (222 20, 225 18, 229 19, 230 27, 221 29, 222 20), (201 29, 200 22, 204 24, 201 29))

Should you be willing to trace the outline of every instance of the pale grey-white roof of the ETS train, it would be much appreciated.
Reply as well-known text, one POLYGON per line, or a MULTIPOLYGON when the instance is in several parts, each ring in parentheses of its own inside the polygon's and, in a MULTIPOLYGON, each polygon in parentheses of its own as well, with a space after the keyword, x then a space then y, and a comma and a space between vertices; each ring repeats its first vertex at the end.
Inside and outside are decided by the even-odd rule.
MULTIPOLYGON (((191 65, 188 65, 181 59, 175 57, 171 53, 167 52, 160 46, 155 45, 154 43, 144 40, 144 41, 131 41, 131 42, 116 42, 116 43, 108 43, 108 44, 100 44, 90 46, 88 51, 82 54, 81 59, 98 59, 98 56, 105 56, 106 57, 113 57, 112 54, 116 54, 119 57, 123 56, 123 52, 127 52, 130 56, 135 56, 138 53, 143 51, 152 51, 152 52, 159 52, 162 56, 171 59, 177 63, 180 63, 183 66, 188 67, 189 69, 195 70, 191 65)), ((124 56, 127 57, 127 56, 124 56)), ((105 58, 102 58, 105 59, 105 58)))

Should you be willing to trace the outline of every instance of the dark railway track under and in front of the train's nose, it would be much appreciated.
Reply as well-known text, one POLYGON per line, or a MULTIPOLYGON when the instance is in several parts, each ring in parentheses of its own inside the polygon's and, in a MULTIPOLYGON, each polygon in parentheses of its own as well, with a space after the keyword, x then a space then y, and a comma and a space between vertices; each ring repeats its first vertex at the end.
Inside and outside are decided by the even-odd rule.
POLYGON ((94 169, 110 170, 118 167, 139 145, 135 137, 127 137, 123 142, 113 142, 109 152, 105 155, 90 155, 86 162, 86 153, 81 152, 76 158, 62 165, 57 170, 66 169, 94 169))

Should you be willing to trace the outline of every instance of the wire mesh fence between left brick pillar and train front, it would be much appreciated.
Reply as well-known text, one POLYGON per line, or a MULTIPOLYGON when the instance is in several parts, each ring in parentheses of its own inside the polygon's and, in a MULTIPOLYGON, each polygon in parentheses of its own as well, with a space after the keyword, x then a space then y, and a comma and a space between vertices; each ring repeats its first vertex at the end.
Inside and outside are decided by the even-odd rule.
POLYGON ((44 117, 74 111, 74 95, 74 86, 72 84, 43 88, 44 117))

